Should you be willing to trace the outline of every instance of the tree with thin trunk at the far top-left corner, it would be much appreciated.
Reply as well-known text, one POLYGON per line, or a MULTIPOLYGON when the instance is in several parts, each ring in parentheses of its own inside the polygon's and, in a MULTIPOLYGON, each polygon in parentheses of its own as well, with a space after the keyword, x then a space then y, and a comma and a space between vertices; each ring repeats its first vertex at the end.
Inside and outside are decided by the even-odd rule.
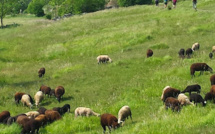
POLYGON ((1 18, 1 28, 3 28, 3 18, 7 13, 9 13, 13 7, 13 2, 15 0, 0 0, 0 18, 1 18))

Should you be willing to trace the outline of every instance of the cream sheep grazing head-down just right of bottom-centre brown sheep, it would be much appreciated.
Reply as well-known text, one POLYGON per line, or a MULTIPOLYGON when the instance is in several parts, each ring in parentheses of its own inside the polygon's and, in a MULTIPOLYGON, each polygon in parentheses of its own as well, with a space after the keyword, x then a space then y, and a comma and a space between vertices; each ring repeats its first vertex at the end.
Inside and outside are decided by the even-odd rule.
MULTIPOLYGON (((132 117, 131 117, 131 109, 129 106, 123 106, 119 112, 118 112, 118 123, 123 123, 124 124, 124 121, 125 119, 127 118, 128 119, 128 116, 130 116, 131 118, 131 121, 132 121, 132 117)), ((122 126, 123 126, 122 124, 122 126)))

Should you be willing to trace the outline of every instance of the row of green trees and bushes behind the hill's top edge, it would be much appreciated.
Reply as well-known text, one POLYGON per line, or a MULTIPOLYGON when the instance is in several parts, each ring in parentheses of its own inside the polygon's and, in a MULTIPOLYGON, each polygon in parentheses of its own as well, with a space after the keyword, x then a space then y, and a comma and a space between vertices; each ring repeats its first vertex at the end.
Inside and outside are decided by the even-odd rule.
POLYGON ((152 4, 153 0, 16 0, 11 13, 31 13, 38 17, 46 15, 47 18, 51 19, 69 13, 95 12, 105 9, 108 3, 115 3, 114 6, 127 7, 152 4))

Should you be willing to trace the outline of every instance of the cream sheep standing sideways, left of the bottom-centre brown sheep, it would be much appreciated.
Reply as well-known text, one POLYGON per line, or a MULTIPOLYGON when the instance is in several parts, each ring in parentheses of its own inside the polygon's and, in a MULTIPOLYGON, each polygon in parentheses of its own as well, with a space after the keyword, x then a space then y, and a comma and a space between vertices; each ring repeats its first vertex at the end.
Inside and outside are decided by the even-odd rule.
POLYGON ((100 116, 100 114, 94 112, 90 108, 78 107, 78 108, 75 109, 75 117, 77 117, 77 116, 87 116, 87 117, 89 117, 91 115, 94 115, 94 116, 97 116, 97 117, 100 116))

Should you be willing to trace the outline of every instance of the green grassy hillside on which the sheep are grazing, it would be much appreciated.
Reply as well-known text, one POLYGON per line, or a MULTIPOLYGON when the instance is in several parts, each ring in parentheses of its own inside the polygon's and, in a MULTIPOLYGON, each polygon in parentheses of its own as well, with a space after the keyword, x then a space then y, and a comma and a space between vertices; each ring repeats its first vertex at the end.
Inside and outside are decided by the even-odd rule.
MULTIPOLYGON (((169 3, 171 5, 171 3, 169 3)), ((71 105, 71 113, 40 129, 40 133, 102 133, 98 117, 74 118, 74 109, 90 107, 98 113, 117 116, 123 105, 129 105, 133 122, 113 134, 214 133, 215 104, 206 107, 183 107, 180 113, 166 111, 160 100, 165 86, 183 90, 198 83, 201 95, 210 90, 211 74, 191 79, 189 67, 206 62, 215 69, 209 52, 214 44, 215 2, 201 0, 198 11, 190 0, 167 10, 160 4, 104 10, 48 21, 32 16, 6 17, 5 24, 16 28, 0 29, 0 111, 11 115, 29 108, 15 105, 17 91, 31 96, 41 85, 64 86, 63 101, 46 97, 41 106, 51 109, 71 105), (191 59, 179 59, 180 48, 201 44, 191 59), (146 59, 146 50, 154 51, 146 59), (96 57, 108 54, 113 63, 97 65, 96 57), (37 71, 45 67, 44 78, 37 71)), ((34 106, 32 110, 37 110, 34 106)), ((0 125, 1 133, 19 133, 18 125, 0 125)))

